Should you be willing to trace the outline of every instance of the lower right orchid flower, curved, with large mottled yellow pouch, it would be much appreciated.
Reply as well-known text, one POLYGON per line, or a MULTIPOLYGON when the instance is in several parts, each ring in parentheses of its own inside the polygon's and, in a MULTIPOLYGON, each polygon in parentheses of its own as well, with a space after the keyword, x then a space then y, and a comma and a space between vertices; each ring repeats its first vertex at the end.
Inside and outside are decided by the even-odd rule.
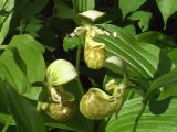
POLYGON ((124 79, 121 84, 116 84, 116 81, 112 79, 105 85, 107 91, 113 90, 112 95, 106 94, 100 88, 90 88, 80 101, 80 110, 88 119, 100 120, 110 117, 116 113, 123 105, 128 77, 123 59, 114 56, 108 59, 108 63, 112 63, 112 61, 116 62, 113 63, 112 67, 117 67, 118 70, 116 72, 123 73, 124 79))

